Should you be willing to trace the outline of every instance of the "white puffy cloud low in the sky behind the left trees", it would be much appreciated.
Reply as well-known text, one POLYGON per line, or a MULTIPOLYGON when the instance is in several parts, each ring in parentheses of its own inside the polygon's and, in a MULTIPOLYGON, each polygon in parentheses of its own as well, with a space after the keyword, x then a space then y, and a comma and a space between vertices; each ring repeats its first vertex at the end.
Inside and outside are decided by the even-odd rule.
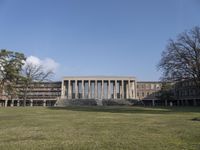
POLYGON ((29 56, 26 59, 25 65, 26 64, 34 64, 34 65, 41 65, 43 66, 44 70, 52 70, 56 71, 59 67, 59 63, 57 63, 55 60, 52 58, 45 58, 45 59, 40 59, 36 56, 29 56))

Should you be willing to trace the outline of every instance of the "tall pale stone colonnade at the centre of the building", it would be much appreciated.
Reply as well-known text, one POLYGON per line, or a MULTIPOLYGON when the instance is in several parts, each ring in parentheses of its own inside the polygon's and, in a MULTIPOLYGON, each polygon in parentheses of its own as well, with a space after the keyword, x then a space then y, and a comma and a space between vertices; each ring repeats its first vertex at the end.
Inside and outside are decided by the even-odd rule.
POLYGON ((135 80, 64 79, 61 97, 66 99, 135 99, 135 80))

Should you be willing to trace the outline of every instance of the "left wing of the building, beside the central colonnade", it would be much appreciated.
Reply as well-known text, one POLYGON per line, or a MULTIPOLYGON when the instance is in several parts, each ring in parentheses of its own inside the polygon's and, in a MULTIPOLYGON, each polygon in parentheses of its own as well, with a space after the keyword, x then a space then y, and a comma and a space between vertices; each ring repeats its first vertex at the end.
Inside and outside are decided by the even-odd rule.
MULTIPOLYGON (((17 97, 12 100, 3 95, 0 106, 23 106, 24 87, 17 85, 17 97)), ((61 82, 42 82, 33 83, 27 89, 26 106, 54 106, 57 99, 61 96, 61 82)))

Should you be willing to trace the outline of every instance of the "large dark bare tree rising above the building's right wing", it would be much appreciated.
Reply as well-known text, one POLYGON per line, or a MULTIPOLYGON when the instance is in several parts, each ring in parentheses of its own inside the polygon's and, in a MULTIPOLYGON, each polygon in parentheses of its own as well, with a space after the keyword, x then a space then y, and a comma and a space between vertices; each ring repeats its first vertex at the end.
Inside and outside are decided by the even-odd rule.
POLYGON ((169 40, 158 68, 168 81, 192 80, 200 88, 200 27, 169 40))

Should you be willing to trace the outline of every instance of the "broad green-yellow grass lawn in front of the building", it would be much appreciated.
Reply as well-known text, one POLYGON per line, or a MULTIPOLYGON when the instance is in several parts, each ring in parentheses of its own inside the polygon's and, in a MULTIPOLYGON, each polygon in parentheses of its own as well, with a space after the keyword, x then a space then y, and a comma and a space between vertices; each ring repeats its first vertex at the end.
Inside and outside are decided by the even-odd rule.
POLYGON ((0 150, 200 150, 200 107, 0 108, 0 150))

